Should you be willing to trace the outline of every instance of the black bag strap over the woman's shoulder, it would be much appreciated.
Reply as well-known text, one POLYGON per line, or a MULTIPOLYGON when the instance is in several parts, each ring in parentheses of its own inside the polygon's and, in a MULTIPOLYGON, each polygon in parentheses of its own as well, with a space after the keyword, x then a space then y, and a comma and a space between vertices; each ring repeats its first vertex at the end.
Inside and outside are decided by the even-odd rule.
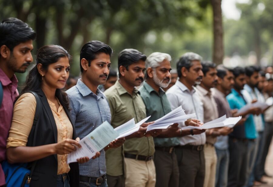
MULTIPOLYGON (((37 121, 39 119, 39 116, 40 116, 40 113, 41 113, 41 110, 42 110, 42 103, 41 103, 41 99, 40 99, 39 95, 36 92, 33 92, 33 91, 28 91, 28 92, 32 93, 35 96, 35 99, 36 99, 36 111, 35 111, 35 116, 34 116, 33 125, 32 125, 32 126, 34 126, 34 136, 33 136, 32 146, 35 146, 37 131, 38 131, 37 130, 38 129, 37 121)), ((36 162, 37 162, 37 160, 34 161, 32 166, 31 166, 31 170, 30 170, 30 174, 29 174, 30 179, 31 179, 32 173, 34 171, 36 162)))

